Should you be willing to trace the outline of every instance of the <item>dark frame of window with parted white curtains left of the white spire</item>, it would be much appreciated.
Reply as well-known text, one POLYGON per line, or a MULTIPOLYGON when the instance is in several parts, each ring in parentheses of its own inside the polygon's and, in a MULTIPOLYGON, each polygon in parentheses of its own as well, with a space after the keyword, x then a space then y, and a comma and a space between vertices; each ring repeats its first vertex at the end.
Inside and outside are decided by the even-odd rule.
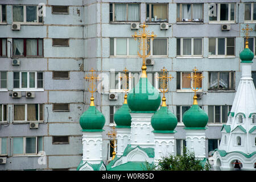
MULTIPOLYGON (((227 72, 227 71, 221 71, 221 72, 208 72, 208 78, 209 78, 209 80, 208 80, 208 90, 209 91, 211 91, 211 92, 214 92, 214 91, 216 91, 216 92, 219 92, 219 91, 223 91, 223 92, 225 92, 225 91, 236 91, 236 72, 234 72, 234 71, 230 71, 230 72, 227 72), (228 89, 220 89, 220 88, 218 88, 218 89, 210 89, 210 73, 218 73, 218 82, 220 82, 220 73, 229 73, 229 88, 228 89), (233 77, 233 79, 234 80, 232 80, 232 73, 233 73, 233 75, 234 75, 234 77, 233 77), (234 85, 234 88, 232 89, 231 87, 232 87, 232 81, 233 81, 233 85, 234 85)), ((219 87, 219 85, 220 84, 218 84, 218 87, 219 87)))

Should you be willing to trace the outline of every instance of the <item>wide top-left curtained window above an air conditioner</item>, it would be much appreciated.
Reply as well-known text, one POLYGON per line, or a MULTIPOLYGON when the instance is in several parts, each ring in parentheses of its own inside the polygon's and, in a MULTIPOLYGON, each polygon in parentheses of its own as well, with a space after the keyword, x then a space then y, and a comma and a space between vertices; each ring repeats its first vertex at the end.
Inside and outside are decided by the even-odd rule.
POLYGON ((38 6, 13 5, 13 22, 43 23, 43 18, 39 16, 38 6))

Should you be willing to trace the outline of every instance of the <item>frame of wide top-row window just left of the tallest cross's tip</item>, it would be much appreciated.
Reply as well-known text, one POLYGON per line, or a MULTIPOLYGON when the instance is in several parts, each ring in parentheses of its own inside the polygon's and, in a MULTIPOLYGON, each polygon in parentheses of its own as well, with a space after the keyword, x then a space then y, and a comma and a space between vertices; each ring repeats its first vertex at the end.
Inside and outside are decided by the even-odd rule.
POLYGON ((123 3, 123 2, 115 2, 109 3, 109 23, 121 23, 121 22, 141 22, 141 3, 134 2, 134 3, 123 3), (112 4, 112 12, 110 12, 110 4, 112 4), (126 4, 126 20, 115 20, 115 4, 126 4), (139 5, 139 20, 138 21, 131 21, 128 20, 128 5, 135 4, 139 5), (110 14, 112 14, 112 21, 110 21, 110 14))

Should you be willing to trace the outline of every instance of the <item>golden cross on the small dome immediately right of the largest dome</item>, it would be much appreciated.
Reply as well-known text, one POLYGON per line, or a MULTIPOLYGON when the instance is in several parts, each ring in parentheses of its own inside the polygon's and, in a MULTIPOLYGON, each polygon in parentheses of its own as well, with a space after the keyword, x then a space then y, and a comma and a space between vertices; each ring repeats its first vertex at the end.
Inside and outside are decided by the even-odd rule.
POLYGON ((163 92, 163 98, 162 98, 162 107, 166 106, 166 97, 164 96, 164 93, 168 92, 168 81, 172 80, 172 76, 168 76, 167 69, 163 67, 161 69, 162 73, 159 73, 159 81, 160 81, 160 87, 159 90, 163 92))

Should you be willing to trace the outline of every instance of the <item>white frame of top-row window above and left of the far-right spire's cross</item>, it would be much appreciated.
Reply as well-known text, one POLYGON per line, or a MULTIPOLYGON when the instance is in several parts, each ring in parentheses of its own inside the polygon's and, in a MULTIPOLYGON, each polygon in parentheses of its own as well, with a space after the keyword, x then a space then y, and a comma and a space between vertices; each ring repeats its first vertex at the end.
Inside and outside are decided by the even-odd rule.
POLYGON ((236 3, 209 3, 208 10, 210 11, 210 5, 215 4, 217 5, 217 20, 210 20, 209 17, 209 23, 236 23, 236 3), (221 4, 228 4, 228 20, 220 20, 220 6, 221 4), (230 20, 230 14, 231 14, 231 4, 234 4, 234 20, 230 20))

